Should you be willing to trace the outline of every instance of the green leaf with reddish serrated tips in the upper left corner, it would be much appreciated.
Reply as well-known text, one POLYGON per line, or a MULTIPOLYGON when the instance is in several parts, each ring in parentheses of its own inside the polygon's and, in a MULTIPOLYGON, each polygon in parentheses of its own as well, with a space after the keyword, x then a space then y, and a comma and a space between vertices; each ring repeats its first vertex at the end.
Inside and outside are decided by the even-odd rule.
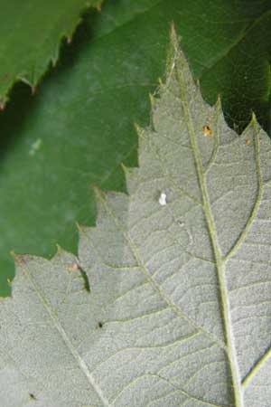
POLYGON ((5 106, 14 82, 34 91, 50 62, 55 65, 63 37, 69 40, 87 7, 101 0, 11 0, 0 14, 0 103, 5 106))

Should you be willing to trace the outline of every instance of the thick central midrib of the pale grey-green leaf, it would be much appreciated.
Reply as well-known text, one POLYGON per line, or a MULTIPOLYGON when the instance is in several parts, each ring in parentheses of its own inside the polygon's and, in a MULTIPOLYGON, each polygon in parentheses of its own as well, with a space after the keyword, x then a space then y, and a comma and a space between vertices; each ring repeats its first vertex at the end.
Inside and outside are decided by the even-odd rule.
MULTIPOLYGON (((178 57, 177 57, 178 58, 178 57)), ((198 144, 196 142, 196 135, 194 132, 194 128, 192 125, 192 116, 190 113, 190 109, 188 108, 188 103, 187 103, 187 98, 186 98, 186 81, 182 77, 182 67, 179 66, 178 61, 175 61, 175 71, 176 71, 176 76, 177 80, 179 82, 180 86, 180 92, 181 92, 181 100, 182 100, 182 108, 183 108, 183 113, 187 125, 187 130, 189 133, 190 141, 191 141, 191 146, 192 146, 192 154, 194 158, 194 163, 196 167, 196 173, 198 175, 198 180, 199 180, 199 185, 201 189, 201 197, 202 197, 202 208, 203 212, 205 214, 207 226, 208 226, 208 232, 210 235, 210 241, 214 253, 214 258, 215 258, 215 263, 216 263, 216 269, 218 273, 218 279, 219 279, 219 288, 220 288, 220 301, 221 301, 221 313, 222 313, 222 318, 223 318, 223 325, 224 325, 224 332, 226 336, 226 344, 227 344, 227 354, 229 357, 229 369, 231 373, 231 378, 232 378, 232 385, 233 385, 233 391, 234 391, 234 399, 235 399, 235 406, 236 407, 244 407, 244 402, 243 402, 243 395, 242 395, 242 390, 240 387, 240 380, 238 377, 238 364, 237 364, 237 355, 236 355, 236 350, 234 346, 234 339, 233 339, 233 333, 232 333, 232 328, 231 328, 231 318, 229 314, 229 298, 228 298, 228 292, 226 288, 226 281, 224 279, 224 266, 223 266, 223 261, 220 253, 220 247, 218 244, 218 236, 216 232, 216 227, 215 227, 215 222, 211 213, 210 209, 210 201, 209 201, 209 196, 208 196, 208 191, 207 191, 207 185, 206 185, 206 178, 204 175, 203 167, 201 164, 201 155, 200 155, 200 150, 198 147, 198 144)), ((204 123, 202 124, 203 127, 204 123)))

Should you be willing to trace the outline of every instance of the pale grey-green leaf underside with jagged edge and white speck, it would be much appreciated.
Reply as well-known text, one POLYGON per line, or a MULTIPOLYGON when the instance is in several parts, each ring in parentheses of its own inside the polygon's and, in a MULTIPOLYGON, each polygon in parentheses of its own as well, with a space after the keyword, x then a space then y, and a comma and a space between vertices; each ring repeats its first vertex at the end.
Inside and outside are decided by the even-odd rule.
POLYGON ((174 31, 152 111, 129 194, 96 189, 79 258, 15 258, 6 407, 269 403, 271 141, 255 117, 238 137, 203 101, 174 31))

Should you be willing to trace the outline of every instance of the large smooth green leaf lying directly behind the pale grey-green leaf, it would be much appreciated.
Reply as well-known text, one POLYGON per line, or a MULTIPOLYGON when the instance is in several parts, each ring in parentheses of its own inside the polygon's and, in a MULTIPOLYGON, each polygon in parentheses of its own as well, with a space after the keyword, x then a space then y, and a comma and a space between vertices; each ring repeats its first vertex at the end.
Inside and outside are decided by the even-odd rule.
MULTIPOLYGON (((237 59, 231 65, 227 55, 266 10, 266 2, 241 8, 240 1, 235 5, 219 0, 110 1, 101 13, 86 16, 58 69, 48 75, 34 98, 25 90, 14 91, 14 100, 0 122, 4 151, 0 165, 0 295, 9 293, 6 278, 14 274, 10 251, 51 256, 57 242, 75 251, 75 221, 93 224, 95 220, 89 185, 125 190, 120 163, 136 164, 133 122, 148 123, 146 96, 163 75, 171 22, 182 36, 195 78, 202 77, 204 96, 215 101, 222 93, 225 104, 227 87, 237 70, 242 78, 244 68, 237 59), (224 71, 216 71, 220 62, 226 76, 224 71)), ((261 39, 266 49, 270 27, 266 26, 261 39)), ((260 32, 260 21, 257 29, 260 32)), ((240 53, 248 54, 251 67, 266 63, 262 57, 254 59, 260 48, 255 44, 252 52, 244 49, 240 53)), ((263 86, 250 87, 251 80, 246 82, 248 104, 250 90, 268 94, 266 77, 261 78, 263 86)), ((246 106, 245 113, 250 115, 241 85, 241 80, 235 83, 229 97, 241 98, 233 104, 237 115, 238 108, 242 112, 246 106)))

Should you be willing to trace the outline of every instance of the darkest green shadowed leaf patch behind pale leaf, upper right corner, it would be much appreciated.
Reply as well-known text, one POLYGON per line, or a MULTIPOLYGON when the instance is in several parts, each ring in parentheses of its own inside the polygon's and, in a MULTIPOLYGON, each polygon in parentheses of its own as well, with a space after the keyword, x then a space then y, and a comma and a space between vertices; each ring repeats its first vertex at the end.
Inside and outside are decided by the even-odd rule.
POLYGON ((201 89, 210 103, 220 94, 231 127, 243 130, 253 110, 270 135, 270 3, 248 5, 239 0, 237 7, 236 16, 248 20, 241 23, 238 41, 232 40, 227 52, 211 61, 211 66, 201 67, 201 89))

